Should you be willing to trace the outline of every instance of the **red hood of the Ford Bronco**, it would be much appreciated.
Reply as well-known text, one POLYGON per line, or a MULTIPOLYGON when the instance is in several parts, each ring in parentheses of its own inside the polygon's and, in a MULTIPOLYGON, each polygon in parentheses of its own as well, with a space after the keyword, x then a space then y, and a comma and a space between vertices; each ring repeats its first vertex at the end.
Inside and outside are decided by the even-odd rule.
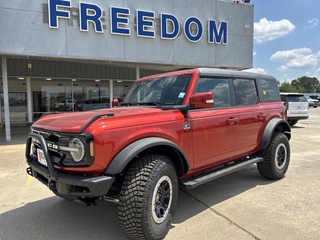
MULTIPOLYGON (((155 107, 115 107, 92 111, 48 114, 32 124, 32 127, 57 132, 79 133, 95 116, 113 113, 114 116, 137 115, 162 111, 155 107)), ((114 117, 108 116, 108 117, 114 117)))

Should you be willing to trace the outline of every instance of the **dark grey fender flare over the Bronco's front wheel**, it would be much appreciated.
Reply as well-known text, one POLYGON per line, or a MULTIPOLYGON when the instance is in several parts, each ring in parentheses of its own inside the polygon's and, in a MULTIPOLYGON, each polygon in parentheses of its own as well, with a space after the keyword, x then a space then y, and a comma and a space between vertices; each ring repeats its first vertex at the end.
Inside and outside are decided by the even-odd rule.
MULTIPOLYGON (((184 153, 184 151, 179 147, 177 144, 174 142, 161 138, 161 137, 147 137, 147 138, 142 138, 140 140, 137 140, 135 142, 132 142, 128 146, 124 147, 111 161, 109 166, 106 168, 104 171, 104 174, 117 174, 121 173, 124 167, 129 163, 129 161, 142 152, 143 150, 152 147, 152 146, 159 146, 159 145, 167 145, 173 147, 178 153, 182 154, 184 159, 186 160, 187 164, 187 169, 184 169, 184 171, 188 171, 189 169, 189 161, 184 153)), ((183 165, 182 159, 181 164, 183 165)))

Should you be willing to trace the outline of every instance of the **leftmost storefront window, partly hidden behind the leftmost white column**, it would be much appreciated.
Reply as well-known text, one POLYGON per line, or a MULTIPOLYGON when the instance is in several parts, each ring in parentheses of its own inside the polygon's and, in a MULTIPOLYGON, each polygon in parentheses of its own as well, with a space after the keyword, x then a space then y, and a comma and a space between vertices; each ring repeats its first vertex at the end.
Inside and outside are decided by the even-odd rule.
MULTIPOLYGON (((26 78, 8 77, 10 122, 27 122, 26 78)), ((4 122, 3 83, 0 84, 1 122, 4 122)))

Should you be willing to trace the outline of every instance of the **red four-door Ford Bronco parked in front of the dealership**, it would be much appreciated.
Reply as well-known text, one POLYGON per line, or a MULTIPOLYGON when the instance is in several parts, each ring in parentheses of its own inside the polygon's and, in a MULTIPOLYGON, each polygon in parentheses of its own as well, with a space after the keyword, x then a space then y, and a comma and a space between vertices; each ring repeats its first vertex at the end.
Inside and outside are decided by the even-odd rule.
POLYGON ((243 71, 144 77, 120 106, 47 113, 31 129, 27 173, 84 205, 117 202, 120 226, 133 239, 167 233, 178 185, 190 189, 253 163, 279 179, 290 159, 276 79, 243 71))

